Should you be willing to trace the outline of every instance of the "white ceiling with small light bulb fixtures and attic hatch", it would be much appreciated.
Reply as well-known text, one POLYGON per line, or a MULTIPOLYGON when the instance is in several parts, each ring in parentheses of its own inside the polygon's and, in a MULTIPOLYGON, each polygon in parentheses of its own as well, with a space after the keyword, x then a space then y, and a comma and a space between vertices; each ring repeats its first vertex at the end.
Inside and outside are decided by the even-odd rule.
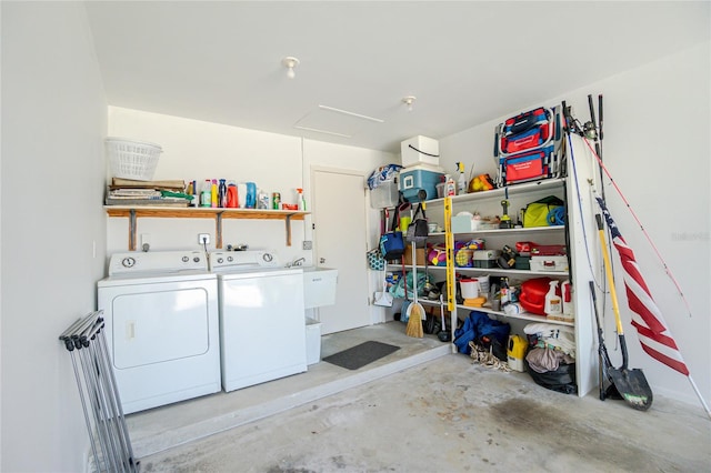
POLYGON ((407 138, 442 138, 705 41, 709 7, 87 3, 111 105, 392 152, 407 138), (287 56, 301 61, 294 79, 287 56), (405 95, 417 97, 410 112, 405 95))

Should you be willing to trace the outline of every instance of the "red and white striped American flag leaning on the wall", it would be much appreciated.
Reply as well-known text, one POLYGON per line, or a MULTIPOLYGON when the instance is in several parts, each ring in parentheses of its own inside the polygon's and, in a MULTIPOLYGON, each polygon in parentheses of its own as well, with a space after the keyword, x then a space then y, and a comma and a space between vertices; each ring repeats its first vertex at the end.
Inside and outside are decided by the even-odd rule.
POLYGON ((624 289, 628 305, 632 311, 632 325, 637 329, 642 350, 654 360, 689 376, 689 369, 640 273, 634 252, 620 234, 620 230, 614 220, 612 220, 604 201, 599 197, 595 199, 610 228, 612 244, 620 255, 622 269, 624 270, 624 289))

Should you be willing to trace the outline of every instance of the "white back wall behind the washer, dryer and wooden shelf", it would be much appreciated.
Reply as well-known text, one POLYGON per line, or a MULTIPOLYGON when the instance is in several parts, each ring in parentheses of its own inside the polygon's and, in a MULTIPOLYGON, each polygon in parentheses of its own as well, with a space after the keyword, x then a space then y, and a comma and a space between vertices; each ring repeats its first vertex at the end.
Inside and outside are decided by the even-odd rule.
MULTIPOLYGON (((328 167, 362 172, 393 157, 381 151, 322 143, 218 123, 109 107, 109 134, 158 143, 163 153, 154 180, 178 179, 186 182, 224 178, 236 182, 252 181, 270 195, 280 192, 282 202, 297 203, 297 188, 304 189, 310 208, 310 169, 328 167)), ((110 172, 108 172, 110 174, 110 172)), ((364 182, 364 181, 363 181, 364 182)), ((364 183, 363 183, 364 185, 364 183)), ((377 212, 373 212, 377 218, 377 212)), ((374 227, 378 231, 378 227, 374 227)), ((212 235, 212 219, 139 219, 138 243, 149 234, 151 250, 199 249, 198 233, 212 235)), ((128 250, 128 219, 109 219, 109 254, 128 250)), ((223 220, 223 246, 247 243, 250 249, 271 249, 282 262, 307 258, 302 242, 312 239, 311 218, 292 222, 291 246, 286 245, 284 223, 279 220, 223 220)), ((364 256, 363 256, 364 258, 364 256)))

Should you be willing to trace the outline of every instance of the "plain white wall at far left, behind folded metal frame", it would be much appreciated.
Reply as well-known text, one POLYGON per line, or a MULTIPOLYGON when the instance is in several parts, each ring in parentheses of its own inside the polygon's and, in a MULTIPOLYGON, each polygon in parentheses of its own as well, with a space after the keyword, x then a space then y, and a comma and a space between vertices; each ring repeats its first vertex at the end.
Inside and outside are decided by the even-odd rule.
POLYGON ((83 6, 2 2, 4 472, 84 467, 87 429, 58 336, 94 309, 103 272, 106 107, 83 6))

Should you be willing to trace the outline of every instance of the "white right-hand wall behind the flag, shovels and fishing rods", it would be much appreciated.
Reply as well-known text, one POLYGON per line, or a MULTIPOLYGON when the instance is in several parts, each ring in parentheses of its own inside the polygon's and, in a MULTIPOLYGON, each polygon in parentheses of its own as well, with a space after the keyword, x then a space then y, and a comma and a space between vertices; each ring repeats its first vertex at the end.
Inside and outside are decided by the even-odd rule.
MULTIPOLYGON (((634 250, 642 274, 684 355, 692 378, 711 403, 711 280, 709 178, 711 155, 711 94, 709 42, 551 98, 545 105, 565 100, 574 115, 589 120, 588 94, 604 97, 603 161, 670 271, 682 288, 691 315, 673 282, 624 202, 605 180, 611 214, 634 250)), ((530 103, 518 113, 540 103, 530 103)), ((474 174, 495 175, 493 128, 504 117, 440 141, 442 164, 473 163, 474 174)), ((597 238, 590 234, 589 238, 597 238)), ((617 264, 618 294, 623 298, 621 268, 617 264)), ((632 368, 641 368, 655 393, 697 403, 690 383, 675 371, 642 352, 629 324, 627 301, 621 300, 624 332, 632 368)), ((614 315, 607 304, 608 350, 617 348, 614 315)), ((619 353, 613 353, 619 365, 619 353)))

